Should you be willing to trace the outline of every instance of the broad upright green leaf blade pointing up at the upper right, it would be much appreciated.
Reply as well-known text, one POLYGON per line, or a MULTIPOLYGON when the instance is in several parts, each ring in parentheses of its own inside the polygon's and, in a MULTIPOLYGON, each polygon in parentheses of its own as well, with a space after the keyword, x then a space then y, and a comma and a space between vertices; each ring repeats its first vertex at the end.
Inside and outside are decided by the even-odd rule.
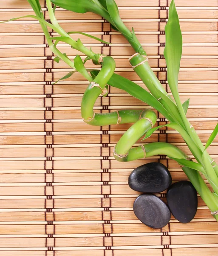
POLYGON ((169 20, 165 26, 165 34, 164 57, 167 63, 167 81, 174 94, 178 90, 178 72, 182 55, 182 35, 174 0, 170 3, 169 20))

